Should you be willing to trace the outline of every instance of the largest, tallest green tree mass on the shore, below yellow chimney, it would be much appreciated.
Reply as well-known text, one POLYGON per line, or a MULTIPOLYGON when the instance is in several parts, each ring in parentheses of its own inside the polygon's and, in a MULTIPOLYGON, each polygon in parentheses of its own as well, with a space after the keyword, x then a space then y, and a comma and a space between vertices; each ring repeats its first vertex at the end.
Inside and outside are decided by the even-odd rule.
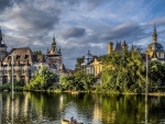
POLYGON ((145 86, 140 48, 125 47, 122 52, 112 52, 102 56, 102 89, 119 92, 142 92, 145 86))

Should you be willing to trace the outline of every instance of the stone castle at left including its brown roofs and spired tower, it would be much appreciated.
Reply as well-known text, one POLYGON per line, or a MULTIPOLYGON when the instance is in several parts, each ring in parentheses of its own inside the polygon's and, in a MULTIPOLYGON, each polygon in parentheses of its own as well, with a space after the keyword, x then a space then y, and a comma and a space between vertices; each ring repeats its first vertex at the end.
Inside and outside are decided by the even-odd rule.
POLYGON ((35 71, 41 71, 43 66, 47 66, 53 72, 59 76, 67 75, 64 64, 62 64, 62 53, 57 49, 55 36, 53 37, 51 49, 44 55, 34 55, 30 47, 12 48, 7 52, 4 35, 0 30, 0 86, 13 80, 28 83, 33 78, 35 71))

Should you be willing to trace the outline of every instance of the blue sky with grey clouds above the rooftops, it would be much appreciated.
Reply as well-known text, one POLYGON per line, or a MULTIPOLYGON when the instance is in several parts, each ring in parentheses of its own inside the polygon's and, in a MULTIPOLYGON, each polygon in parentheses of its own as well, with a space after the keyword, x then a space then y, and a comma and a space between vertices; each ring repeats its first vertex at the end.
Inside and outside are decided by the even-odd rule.
POLYGON ((55 33, 66 68, 87 54, 107 54, 107 44, 125 40, 143 50, 154 23, 165 47, 165 0, 0 0, 0 26, 12 47, 51 48, 55 33))

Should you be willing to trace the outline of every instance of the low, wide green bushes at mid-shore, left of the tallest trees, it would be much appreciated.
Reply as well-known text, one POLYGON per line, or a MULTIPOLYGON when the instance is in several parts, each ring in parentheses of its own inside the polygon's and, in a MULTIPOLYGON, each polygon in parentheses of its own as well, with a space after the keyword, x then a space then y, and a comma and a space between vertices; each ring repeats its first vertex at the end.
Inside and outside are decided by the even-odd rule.
POLYGON ((96 82, 94 75, 84 74, 81 70, 62 78, 64 90, 87 91, 92 88, 94 82, 96 82))

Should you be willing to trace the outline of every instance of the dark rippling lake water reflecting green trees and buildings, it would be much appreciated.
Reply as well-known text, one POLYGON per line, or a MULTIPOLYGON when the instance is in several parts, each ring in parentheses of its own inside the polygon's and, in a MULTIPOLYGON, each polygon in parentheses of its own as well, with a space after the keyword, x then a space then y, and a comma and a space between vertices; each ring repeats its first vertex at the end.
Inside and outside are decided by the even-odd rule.
POLYGON ((74 116, 84 124, 165 124, 165 97, 97 93, 0 93, 1 124, 61 124, 74 116))

